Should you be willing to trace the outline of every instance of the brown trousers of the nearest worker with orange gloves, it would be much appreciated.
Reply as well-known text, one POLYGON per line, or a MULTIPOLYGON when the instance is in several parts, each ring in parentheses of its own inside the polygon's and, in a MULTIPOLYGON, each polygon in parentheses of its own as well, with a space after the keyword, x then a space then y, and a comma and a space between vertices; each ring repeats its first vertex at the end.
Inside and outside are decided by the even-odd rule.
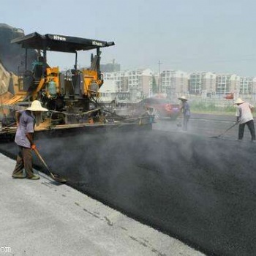
POLYGON ((31 178, 34 175, 31 148, 24 148, 22 146, 18 146, 16 165, 12 174, 22 176, 23 168, 26 172, 27 178, 31 178))

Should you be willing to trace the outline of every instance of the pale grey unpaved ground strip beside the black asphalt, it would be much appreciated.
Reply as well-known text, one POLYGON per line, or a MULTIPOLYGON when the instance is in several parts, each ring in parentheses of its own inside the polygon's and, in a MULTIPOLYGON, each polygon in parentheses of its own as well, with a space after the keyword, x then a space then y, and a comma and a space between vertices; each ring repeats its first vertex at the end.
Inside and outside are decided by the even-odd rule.
POLYGON ((13 179, 0 154, 0 255, 203 255, 39 173, 13 179))

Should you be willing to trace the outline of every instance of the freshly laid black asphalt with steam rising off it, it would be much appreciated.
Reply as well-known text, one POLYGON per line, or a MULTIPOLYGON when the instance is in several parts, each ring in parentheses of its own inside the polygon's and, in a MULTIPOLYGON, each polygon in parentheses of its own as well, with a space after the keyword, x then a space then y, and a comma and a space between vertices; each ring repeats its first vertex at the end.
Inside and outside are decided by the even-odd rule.
POLYGON ((256 145, 248 129, 236 141, 238 127, 210 138, 234 119, 193 116, 188 132, 164 120, 151 132, 45 138, 37 146, 72 187, 129 217, 206 255, 255 255, 256 145))

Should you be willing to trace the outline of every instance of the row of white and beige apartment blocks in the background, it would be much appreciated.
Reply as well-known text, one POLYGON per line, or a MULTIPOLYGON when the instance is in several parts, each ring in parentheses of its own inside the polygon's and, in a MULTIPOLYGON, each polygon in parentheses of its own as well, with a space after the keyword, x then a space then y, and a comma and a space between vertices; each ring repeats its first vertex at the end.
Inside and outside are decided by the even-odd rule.
POLYGON ((115 81, 116 92, 137 94, 137 98, 151 97, 154 92, 165 93, 170 98, 181 94, 222 97, 230 93, 235 94, 236 97, 253 94, 256 98, 256 78, 240 77, 236 74, 213 72, 189 74, 181 70, 167 69, 163 70, 159 77, 159 72, 152 72, 151 69, 136 69, 105 72, 103 75, 105 83, 108 80, 115 81))

